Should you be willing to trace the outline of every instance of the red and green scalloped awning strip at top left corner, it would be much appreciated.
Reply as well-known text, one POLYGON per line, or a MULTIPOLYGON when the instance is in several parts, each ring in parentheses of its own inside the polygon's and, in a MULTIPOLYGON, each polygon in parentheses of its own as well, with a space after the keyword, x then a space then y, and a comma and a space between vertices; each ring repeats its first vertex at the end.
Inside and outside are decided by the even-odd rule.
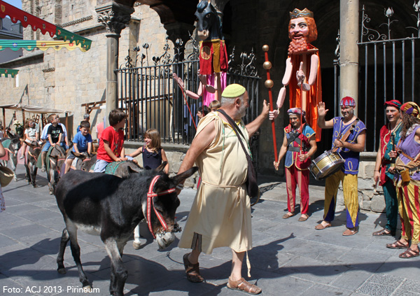
MULTIPOLYGON (((80 49, 84 48, 84 51, 90 50, 90 46, 92 45, 92 41, 90 39, 72 33, 71 31, 67 31, 66 29, 57 27, 55 24, 46 22, 45 20, 42 20, 39 17, 31 15, 26 11, 20 10, 19 8, 15 8, 15 6, 11 6, 10 4, 0 0, 0 17, 4 18, 6 17, 6 15, 10 17, 10 20, 12 20, 13 23, 16 23, 18 22, 18 20, 20 20, 20 23, 25 28, 28 27, 28 24, 30 24, 34 31, 40 29, 43 35, 49 33, 51 38, 56 36, 56 38, 59 40, 66 41, 69 43, 76 43, 76 45, 80 45, 77 47, 80 49)), ((42 43, 47 41, 39 42, 42 43)))

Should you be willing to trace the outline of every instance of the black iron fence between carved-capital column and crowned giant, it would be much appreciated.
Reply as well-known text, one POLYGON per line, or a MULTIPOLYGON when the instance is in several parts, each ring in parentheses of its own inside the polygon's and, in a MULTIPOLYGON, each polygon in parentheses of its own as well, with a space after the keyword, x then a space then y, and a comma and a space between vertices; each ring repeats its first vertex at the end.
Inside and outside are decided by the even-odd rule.
MULTIPOLYGON (((119 108, 128 115, 125 127, 127 141, 143 141, 147 129, 158 129, 163 143, 190 144, 195 136, 197 109, 202 106, 202 101, 186 97, 174 82, 172 74, 176 73, 183 80, 186 90, 197 93, 200 85, 197 75, 199 62, 197 59, 183 62, 177 62, 176 59, 162 60, 153 59, 153 66, 116 70, 119 108)), ((255 119, 259 113, 259 79, 255 68, 250 71, 249 67, 238 69, 230 65, 228 84, 239 83, 248 90, 250 107, 244 117, 246 123, 255 119)))

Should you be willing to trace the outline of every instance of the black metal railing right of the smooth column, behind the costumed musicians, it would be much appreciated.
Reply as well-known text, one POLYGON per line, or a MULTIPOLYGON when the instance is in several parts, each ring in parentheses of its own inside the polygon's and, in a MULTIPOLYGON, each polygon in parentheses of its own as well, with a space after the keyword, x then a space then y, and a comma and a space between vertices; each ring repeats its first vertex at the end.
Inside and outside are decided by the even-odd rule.
MULTIPOLYGON (((359 118, 367 127, 366 150, 377 151, 379 129, 386 123, 384 102, 391 99, 415 101, 419 93, 418 83, 414 83, 419 74, 420 36, 391 39, 393 9, 384 10, 387 22, 379 27, 386 27, 384 34, 367 27, 370 18, 362 9, 362 24, 359 46, 359 118), (373 116, 372 116, 373 115, 373 116)), ((419 28, 412 28, 417 30, 419 28)), ((417 99, 418 100, 418 99, 417 99)))

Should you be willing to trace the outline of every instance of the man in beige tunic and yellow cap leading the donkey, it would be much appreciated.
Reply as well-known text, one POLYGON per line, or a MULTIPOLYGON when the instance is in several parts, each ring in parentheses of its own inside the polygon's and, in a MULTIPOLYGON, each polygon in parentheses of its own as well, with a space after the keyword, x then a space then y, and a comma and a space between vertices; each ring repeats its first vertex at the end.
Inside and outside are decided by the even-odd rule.
MULTIPOLYGON (((221 109, 235 122, 246 139, 267 118, 269 105, 264 101, 262 113, 253 122, 244 125, 241 118, 248 108, 248 92, 237 84, 229 85, 222 93, 221 109)), ((261 289, 241 276, 246 251, 252 248, 251 205, 246 192, 248 164, 244 149, 225 116, 219 112, 206 115, 198 125, 197 135, 179 171, 197 164, 202 183, 183 230, 180 248, 193 251, 183 256, 188 281, 200 283, 198 257, 201 252, 211 254, 214 248, 232 248, 232 272, 228 288, 259 294, 261 289)))

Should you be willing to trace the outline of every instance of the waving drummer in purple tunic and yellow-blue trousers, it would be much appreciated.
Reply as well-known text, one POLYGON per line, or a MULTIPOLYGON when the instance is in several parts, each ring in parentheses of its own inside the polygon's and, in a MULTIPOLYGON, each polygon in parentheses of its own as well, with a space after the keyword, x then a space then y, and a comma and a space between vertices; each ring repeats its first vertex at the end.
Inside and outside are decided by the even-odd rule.
POLYGON ((318 126, 321 129, 333 129, 332 148, 344 159, 344 167, 325 180, 325 202, 323 221, 316 225, 316 230, 323 230, 331 226, 334 220, 335 206, 337 204, 337 190, 339 183, 343 184, 344 204, 346 206, 346 227, 344 236, 358 232, 358 191, 357 174, 359 154, 365 149, 366 127, 356 118, 354 109, 356 101, 351 97, 344 97, 340 102, 342 117, 335 117, 325 121, 328 109, 325 103, 318 104, 318 126))

